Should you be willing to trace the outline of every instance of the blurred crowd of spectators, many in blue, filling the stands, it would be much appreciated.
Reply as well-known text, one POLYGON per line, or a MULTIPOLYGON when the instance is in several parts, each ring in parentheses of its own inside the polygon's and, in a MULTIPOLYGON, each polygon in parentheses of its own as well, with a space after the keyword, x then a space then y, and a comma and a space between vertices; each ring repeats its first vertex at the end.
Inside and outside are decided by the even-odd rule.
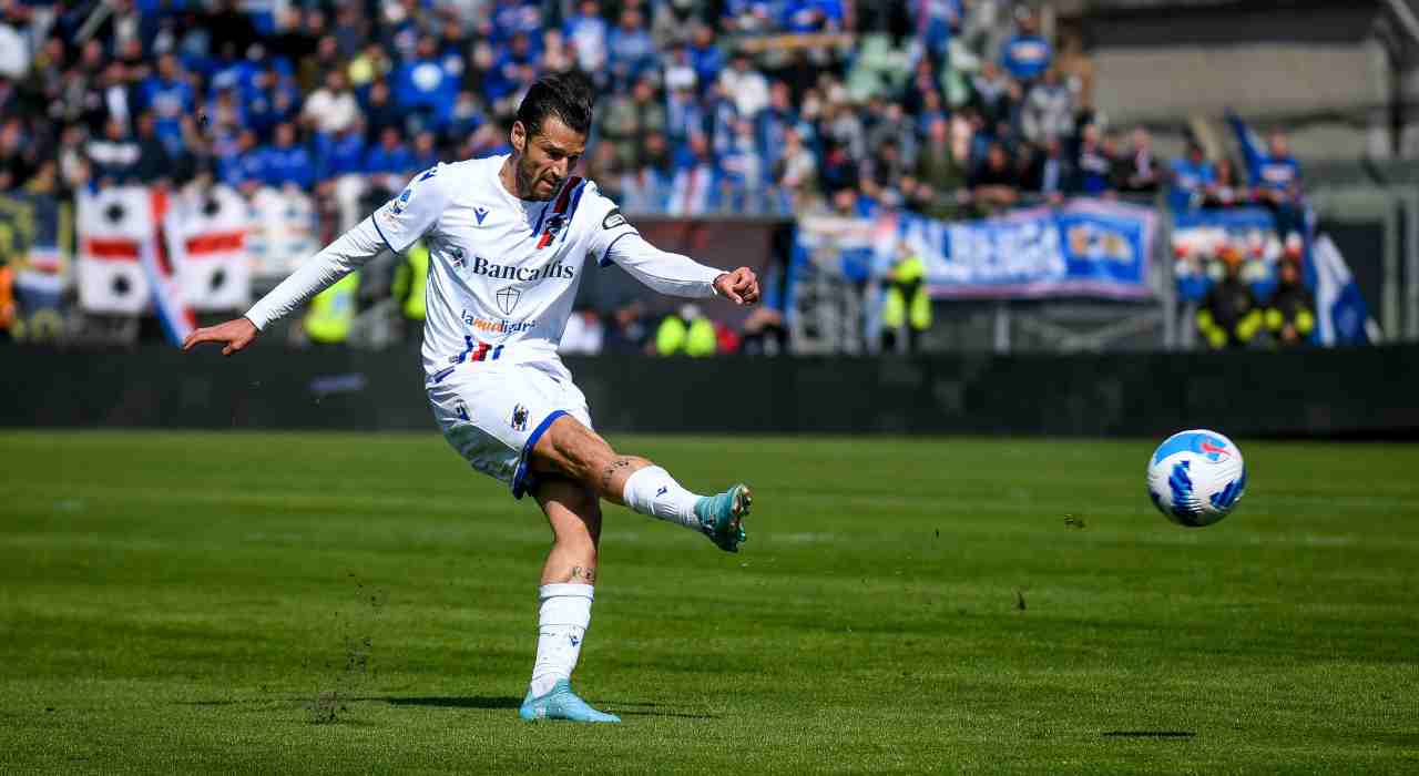
POLYGON ((1080 35, 1007 0, 4 0, 0 48, 0 190, 301 190, 326 234, 440 160, 507 152, 525 88, 568 68, 602 94, 585 173, 629 213, 1166 190, 1267 204, 1284 237, 1300 211, 1284 136, 1249 182, 1198 143, 1166 163, 1094 108, 1080 35))

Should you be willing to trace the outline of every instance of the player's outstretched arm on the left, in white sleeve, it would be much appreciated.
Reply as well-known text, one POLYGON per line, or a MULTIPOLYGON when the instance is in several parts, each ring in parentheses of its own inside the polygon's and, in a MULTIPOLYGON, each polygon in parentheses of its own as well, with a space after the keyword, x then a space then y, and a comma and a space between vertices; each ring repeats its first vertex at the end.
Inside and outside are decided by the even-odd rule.
POLYGON ((433 228, 448 203, 447 189, 437 173, 438 167, 433 167, 414 176, 399 196, 301 264, 291 277, 251 305, 244 316, 192 332, 182 349, 220 342, 221 355, 230 356, 251 345, 270 323, 301 308, 382 251, 407 250, 433 228))

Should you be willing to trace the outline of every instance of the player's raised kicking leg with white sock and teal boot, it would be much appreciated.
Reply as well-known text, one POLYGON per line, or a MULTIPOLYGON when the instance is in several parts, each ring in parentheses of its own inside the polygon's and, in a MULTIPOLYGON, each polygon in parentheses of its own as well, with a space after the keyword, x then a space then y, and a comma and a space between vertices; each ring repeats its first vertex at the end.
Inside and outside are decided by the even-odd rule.
POLYGON ((575 417, 553 420, 531 458, 535 471, 570 477, 613 504, 701 531, 721 549, 738 552, 745 541, 742 521, 753 501, 746 485, 712 497, 694 494, 651 461, 616 453, 575 417))

